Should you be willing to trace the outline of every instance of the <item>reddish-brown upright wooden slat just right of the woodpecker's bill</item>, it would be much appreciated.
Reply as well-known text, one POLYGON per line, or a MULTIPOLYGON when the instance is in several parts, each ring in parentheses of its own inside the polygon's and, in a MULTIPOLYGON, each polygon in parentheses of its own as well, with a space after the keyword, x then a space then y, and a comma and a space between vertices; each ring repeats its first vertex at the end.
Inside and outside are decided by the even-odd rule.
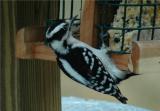
POLYGON ((95 0, 85 0, 84 9, 81 18, 80 40, 94 45, 97 42, 96 37, 96 2, 95 0))

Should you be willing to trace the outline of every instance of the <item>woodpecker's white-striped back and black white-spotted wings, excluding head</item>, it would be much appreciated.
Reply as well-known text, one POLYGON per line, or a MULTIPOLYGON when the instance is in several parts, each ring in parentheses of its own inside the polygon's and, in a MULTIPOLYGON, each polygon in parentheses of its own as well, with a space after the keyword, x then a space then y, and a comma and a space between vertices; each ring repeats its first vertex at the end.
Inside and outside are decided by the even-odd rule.
POLYGON ((71 79, 126 103, 127 98, 121 94, 114 79, 91 50, 71 48, 67 55, 59 56, 57 60, 60 68, 71 79))

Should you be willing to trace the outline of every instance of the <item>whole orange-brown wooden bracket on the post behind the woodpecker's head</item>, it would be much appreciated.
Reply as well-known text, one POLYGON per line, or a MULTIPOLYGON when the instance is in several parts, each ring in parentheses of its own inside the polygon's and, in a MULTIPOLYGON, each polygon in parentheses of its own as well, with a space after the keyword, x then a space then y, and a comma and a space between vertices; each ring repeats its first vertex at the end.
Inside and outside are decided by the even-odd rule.
POLYGON ((16 57, 56 61, 53 51, 44 45, 44 27, 26 27, 16 36, 16 57))

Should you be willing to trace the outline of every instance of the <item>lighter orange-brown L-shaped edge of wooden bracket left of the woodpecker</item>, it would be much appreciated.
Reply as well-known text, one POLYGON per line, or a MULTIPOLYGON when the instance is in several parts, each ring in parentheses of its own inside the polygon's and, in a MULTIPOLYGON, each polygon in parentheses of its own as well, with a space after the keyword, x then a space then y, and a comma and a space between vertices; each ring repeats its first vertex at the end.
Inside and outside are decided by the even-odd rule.
POLYGON ((56 56, 49 47, 42 42, 25 42, 24 37, 25 28, 22 28, 17 32, 15 39, 16 58, 56 61, 56 56))

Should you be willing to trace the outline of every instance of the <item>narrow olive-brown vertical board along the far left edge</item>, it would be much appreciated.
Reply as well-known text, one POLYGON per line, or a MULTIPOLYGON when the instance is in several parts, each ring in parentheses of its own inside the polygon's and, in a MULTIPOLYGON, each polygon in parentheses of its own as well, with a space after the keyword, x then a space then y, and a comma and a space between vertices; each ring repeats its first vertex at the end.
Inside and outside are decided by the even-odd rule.
POLYGON ((1 78, 0 78, 0 96, 2 111, 16 110, 16 87, 15 86, 15 56, 14 56, 14 36, 15 36, 15 22, 14 22, 14 3, 1 2, 1 78), (14 102, 13 102, 14 101, 14 102))

